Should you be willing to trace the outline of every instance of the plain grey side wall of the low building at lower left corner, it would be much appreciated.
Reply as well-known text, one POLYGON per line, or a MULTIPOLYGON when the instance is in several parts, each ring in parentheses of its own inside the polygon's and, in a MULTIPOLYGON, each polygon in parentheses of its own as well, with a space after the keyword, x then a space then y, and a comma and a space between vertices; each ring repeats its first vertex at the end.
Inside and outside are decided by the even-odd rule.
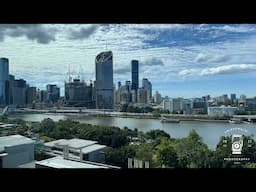
POLYGON ((7 156, 3 157, 3 168, 15 168, 34 161, 34 144, 5 147, 7 156))

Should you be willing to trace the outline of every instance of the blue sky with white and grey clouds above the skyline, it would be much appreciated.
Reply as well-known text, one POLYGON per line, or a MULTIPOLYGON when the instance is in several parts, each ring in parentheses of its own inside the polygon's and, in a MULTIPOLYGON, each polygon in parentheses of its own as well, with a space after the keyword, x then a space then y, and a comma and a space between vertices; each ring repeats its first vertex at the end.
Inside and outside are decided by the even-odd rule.
POLYGON ((256 25, 253 24, 0 24, 0 57, 10 74, 30 86, 57 84, 64 93, 73 78, 95 80, 95 57, 113 52, 114 83, 139 81, 153 93, 201 97, 256 96, 256 25))

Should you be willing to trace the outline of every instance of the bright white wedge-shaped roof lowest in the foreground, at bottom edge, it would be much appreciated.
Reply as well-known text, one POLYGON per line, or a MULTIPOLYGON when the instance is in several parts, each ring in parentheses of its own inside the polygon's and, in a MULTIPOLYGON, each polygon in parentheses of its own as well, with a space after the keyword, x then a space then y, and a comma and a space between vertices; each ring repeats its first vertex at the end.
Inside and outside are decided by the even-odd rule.
POLYGON ((50 167, 50 168, 71 168, 71 169, 107 169, 109 167, 103 166, 103 165, 95 165, 95 164, 89 164, 89 163, 81 163, 77 161, 67 160, 63 157, 57 156, 50 159, 45 159, 42 161, 36 162, 38 165, 50 167))

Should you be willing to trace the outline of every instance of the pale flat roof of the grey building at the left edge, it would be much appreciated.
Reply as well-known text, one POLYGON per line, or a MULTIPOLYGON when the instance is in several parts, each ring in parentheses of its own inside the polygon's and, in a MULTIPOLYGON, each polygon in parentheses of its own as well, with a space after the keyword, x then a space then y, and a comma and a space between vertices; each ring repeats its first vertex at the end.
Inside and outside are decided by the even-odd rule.
POLYGON ((0 137, 0 152, 4 152, 4 148, 7 146, 16 146, 31 143, 35 143, 35 141, 21 135, 9 135, 0 137))

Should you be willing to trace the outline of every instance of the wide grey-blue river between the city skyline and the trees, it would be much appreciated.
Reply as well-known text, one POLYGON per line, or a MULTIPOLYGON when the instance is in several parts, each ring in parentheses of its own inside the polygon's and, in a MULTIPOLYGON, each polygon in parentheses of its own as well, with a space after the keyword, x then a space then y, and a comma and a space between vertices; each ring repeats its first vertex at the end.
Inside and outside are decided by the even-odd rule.
MULTIPOLYGON (((44 118, 51 118, 54 121, 71 118, 81 123, 94 125, 117 126, 129 129, 137 128, 140 131, 149 131, 152 129, 161 129, 170 134, 173 138, 186 137, 192 129, 203 138, 210 148, 215 148, 221 136, 234 134, 232 130, 242 130, 242 134, 256 135, 256 124, 229 124, 197 121, 181 121, 180 123, 161 123, 158 119, 135 119, 121 117, 93 117, 83 114, 15 114, 9 118, 20 118, 25 121, 42 121, 44 118)), ((256 139, 255 136, 253 136, 256 139)))

